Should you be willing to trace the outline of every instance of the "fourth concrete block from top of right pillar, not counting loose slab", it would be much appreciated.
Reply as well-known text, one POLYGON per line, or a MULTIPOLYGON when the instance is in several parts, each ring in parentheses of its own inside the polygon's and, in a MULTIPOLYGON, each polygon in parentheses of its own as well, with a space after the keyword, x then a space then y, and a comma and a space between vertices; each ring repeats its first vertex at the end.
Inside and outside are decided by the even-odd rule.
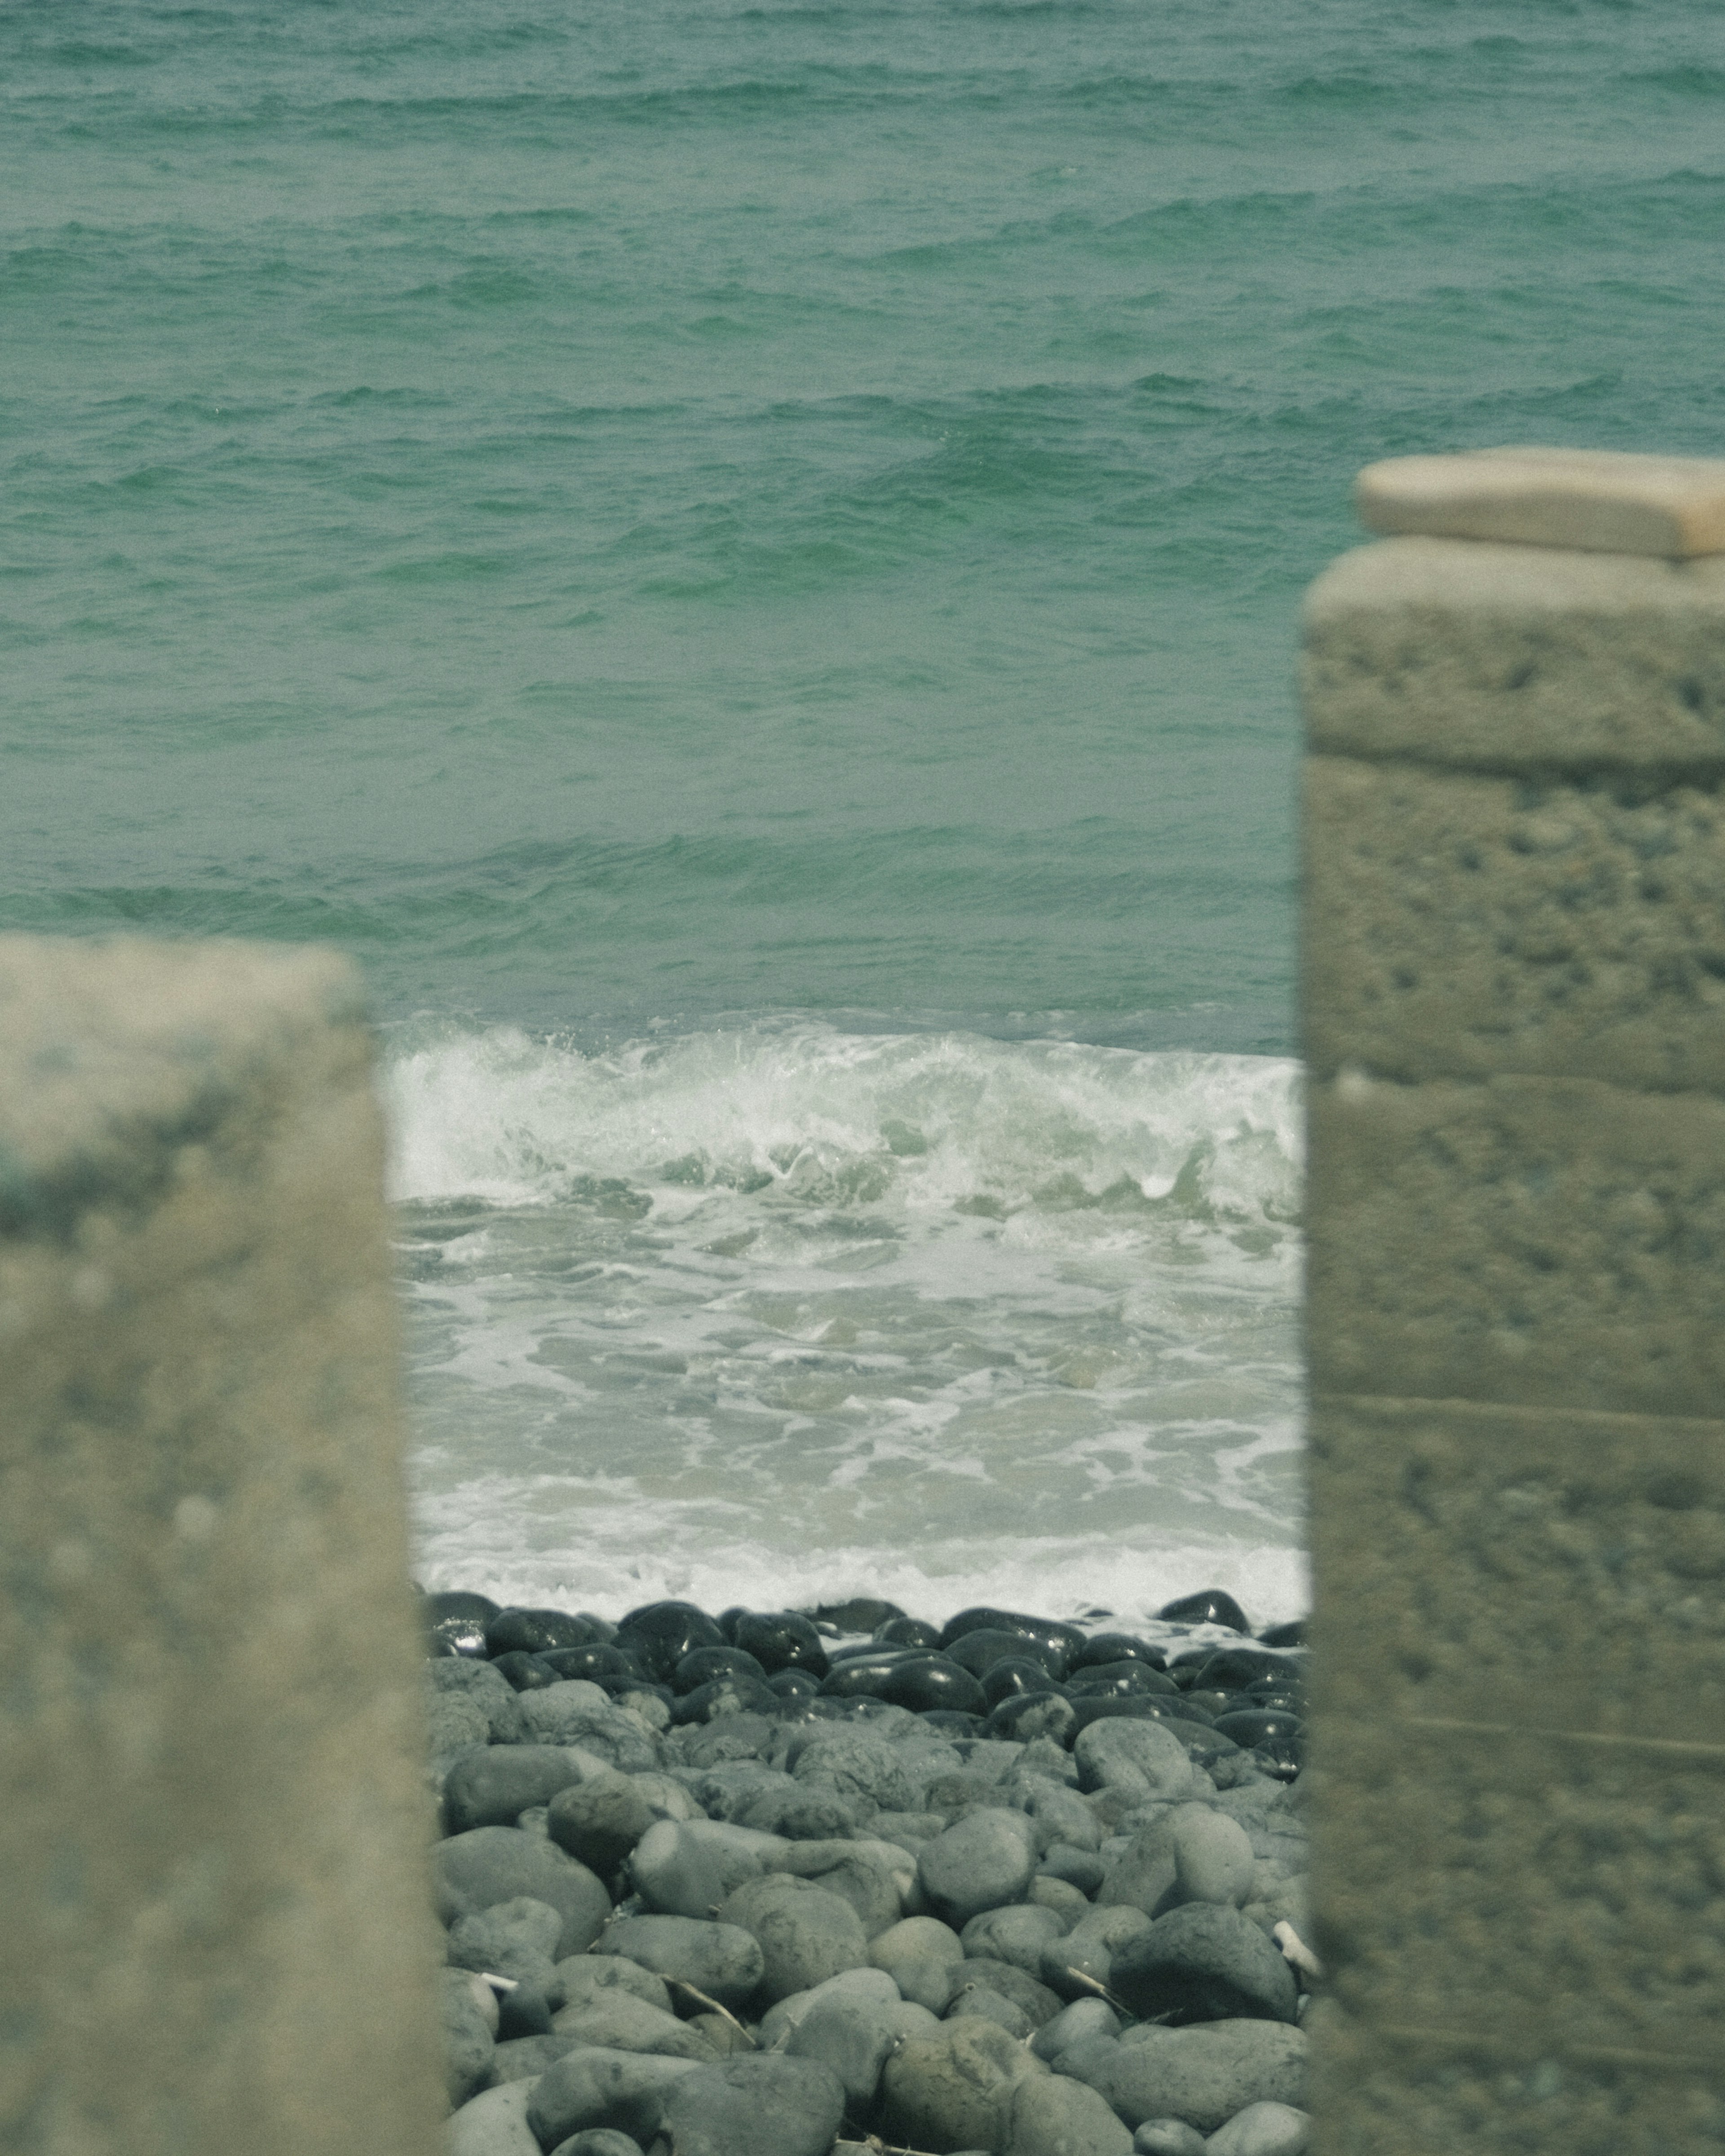
POLYGON ((1725 1421, 1320 1395, 1309 1447, 1320 1720, 1725 1742, 1725 1421))

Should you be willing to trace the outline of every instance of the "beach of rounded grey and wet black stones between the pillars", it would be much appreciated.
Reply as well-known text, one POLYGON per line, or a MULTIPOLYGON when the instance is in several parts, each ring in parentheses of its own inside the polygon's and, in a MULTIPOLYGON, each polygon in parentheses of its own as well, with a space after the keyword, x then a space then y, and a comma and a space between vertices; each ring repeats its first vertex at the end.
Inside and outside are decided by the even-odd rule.
POLYGON ((1302 1626, 423 1598, 448 2156, 1300 2156, 1302 1626))

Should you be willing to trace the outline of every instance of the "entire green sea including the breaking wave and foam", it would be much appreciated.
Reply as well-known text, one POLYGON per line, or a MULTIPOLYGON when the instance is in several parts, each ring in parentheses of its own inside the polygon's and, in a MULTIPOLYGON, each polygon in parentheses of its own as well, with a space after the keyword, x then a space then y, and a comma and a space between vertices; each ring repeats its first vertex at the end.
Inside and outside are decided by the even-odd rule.
POLYGON ((1714 0, 11 0, 0 925, 328 938, 420 1570, 1302 1598, 1358 464, 1721 453, 1714 0))

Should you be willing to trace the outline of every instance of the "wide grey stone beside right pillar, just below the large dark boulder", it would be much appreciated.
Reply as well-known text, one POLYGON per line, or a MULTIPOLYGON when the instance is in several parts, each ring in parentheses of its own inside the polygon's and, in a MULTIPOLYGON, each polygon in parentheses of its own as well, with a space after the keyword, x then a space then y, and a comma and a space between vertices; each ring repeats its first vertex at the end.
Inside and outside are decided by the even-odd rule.
POLYGON ((1195 2029, 1132 2029, 1119 2044, 1067 2050, 1061 2068, 1098 2089, 1126 2119, 1184 2119, 1203 2134, 1246 2104, 1298 2104, 1307 2040, 1266 2020, 1218 2020, 1195 2029))

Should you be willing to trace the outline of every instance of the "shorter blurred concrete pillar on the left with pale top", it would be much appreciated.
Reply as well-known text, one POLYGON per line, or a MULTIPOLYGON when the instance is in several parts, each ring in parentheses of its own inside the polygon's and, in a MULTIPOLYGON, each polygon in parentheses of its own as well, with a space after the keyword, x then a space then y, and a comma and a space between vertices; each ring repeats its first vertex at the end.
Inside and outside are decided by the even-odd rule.
POLYGON ((0 2147, 427 2156, 351 968, 0 940, 0 2147))

